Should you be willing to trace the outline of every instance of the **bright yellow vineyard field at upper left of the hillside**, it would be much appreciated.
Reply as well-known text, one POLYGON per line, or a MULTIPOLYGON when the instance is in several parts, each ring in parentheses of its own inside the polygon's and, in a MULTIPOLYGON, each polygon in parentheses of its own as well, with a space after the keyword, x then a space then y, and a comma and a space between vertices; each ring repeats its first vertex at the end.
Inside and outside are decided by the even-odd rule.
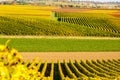
POLYGON ((49 19, 53 9, 56 8, 52 6, 0 5, 0 15, 49 19))

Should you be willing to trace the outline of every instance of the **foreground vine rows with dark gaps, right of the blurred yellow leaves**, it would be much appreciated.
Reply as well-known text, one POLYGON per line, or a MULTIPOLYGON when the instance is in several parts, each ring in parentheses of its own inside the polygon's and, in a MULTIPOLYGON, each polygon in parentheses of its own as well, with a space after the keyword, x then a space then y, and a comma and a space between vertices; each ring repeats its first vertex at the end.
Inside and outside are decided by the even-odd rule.
POLYGON ((120 59, 108 60, 59 60, 24 62, 27 67, 37 66, 44 80, 119 80, 120 59), (117 64, 116 64, 117 63, 117 64))

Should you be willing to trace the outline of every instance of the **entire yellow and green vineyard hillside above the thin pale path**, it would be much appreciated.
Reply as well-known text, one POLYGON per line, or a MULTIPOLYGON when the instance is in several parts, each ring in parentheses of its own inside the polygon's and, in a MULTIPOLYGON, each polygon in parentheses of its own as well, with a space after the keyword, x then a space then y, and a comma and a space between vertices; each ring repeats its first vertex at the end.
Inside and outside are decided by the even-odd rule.
POLYGON ((53 12, 54 9, 57 8, 1 5, 0 35, 120 37, 120 19, 108 15, 117 10, 82 13, 53 12))

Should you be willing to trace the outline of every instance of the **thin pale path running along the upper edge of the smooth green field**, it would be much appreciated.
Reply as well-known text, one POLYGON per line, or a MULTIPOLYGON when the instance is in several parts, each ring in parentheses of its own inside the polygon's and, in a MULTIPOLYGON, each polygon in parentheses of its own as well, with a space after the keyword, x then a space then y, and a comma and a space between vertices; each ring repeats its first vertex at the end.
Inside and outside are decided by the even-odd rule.
POLYGON ((0 38, 46 38, 46 39, 111 39, 120 40, 120 37, 94 37, 94 36, 5 36, 0 35, 0 38))

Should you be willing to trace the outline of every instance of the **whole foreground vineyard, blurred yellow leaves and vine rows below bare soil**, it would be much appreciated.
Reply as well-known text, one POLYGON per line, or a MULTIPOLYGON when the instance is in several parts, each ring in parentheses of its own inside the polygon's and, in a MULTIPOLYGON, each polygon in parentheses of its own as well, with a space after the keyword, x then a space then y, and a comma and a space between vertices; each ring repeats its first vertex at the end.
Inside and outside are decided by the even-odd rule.
MULTIPOLYGON (((0 79, 2 80, 119 80, 120 59, 63 60, 42 62, 35 58, 24 62, 14 48, 0 45, 0 79)), ((54 59, 53 59, 54 60, 54 59)))

